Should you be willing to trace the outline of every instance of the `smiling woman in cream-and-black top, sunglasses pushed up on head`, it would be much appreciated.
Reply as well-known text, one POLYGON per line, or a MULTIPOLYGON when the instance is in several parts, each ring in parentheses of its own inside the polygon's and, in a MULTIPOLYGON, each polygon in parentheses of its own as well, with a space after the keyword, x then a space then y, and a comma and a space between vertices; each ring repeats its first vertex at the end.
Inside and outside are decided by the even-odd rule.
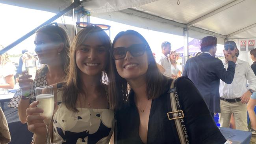
MULTIPOLYGON (((106 91, 111 41, 98 26, 87 26, 71 46, 70 71, 54 110, 52 141, 57 144, 107 144, 113 132, 114 113, 106 91)), ((28 129, 35 143, 44 144, 46 128, 37 101, 27 109, 28 129)))

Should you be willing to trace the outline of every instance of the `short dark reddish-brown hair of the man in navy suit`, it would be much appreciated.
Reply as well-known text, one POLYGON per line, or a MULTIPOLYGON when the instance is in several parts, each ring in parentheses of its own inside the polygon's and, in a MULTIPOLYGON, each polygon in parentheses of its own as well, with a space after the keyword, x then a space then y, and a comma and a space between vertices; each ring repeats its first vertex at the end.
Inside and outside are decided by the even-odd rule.
POLYGON ((213 46, 217 46, 217 37, 207 36, 202 38, 200 44, 201 52, 209 52, 209 50, 213 48, 213 46))

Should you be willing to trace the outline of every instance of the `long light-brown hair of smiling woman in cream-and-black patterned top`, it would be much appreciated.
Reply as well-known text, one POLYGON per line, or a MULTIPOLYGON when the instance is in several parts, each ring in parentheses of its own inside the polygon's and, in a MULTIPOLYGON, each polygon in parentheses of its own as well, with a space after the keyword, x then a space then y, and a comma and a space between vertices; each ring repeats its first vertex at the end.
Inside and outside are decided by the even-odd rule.
POLYGON ((78 98, 78 94, 84 94, 83 90, 84 85, 82 84, 82 80, 79 75, 79 68, 76 64, 76 50, 77 48, 83 44, 83 42, 90 37, 92 34, 96 34, 98 39, 102 41, 103 45, 107 49, 107 65, 105 70, 102 72, 102 79, 99 79, 101 83, 108 83, 108 74, 109 74, 109 50, 111 48, 111 41, 108 35, 98 26, 87 26, 83 28, 78 34, 74 37, 74 40, 71 45, 71 52, 70 52, 70 70, 67 76, 67 82, 64 86, 63 92, 63 102, 65 103, 67 109, 78 112, 76 109, 76 100, 78 98))

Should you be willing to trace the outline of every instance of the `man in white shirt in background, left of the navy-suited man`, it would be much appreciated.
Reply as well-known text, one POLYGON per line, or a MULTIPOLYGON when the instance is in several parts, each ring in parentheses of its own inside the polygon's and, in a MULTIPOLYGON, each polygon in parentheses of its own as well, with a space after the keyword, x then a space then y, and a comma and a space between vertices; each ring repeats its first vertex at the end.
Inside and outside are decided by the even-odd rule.
POLYGON ((163 72, 163 74, 172 77, 171 61, 167 57, 171 52, 171 43, 168 41, 162 42, 161 48, 162 53, 156 57, 156 63, 165 68, 165 72, 163 72))

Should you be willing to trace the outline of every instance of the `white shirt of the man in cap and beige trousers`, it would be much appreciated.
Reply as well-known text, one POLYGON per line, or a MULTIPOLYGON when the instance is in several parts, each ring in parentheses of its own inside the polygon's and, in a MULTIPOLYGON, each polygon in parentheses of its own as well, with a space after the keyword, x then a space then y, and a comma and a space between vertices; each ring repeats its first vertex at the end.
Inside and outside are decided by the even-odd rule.
MULTIPOLYGON (((222 62, 227 69, 228 63, 226 63, 225 60, 222 62)), ((256 90, 256 76, 249 63, 237 58, 235 76, 232 83, 226 84, 224 81, 220 80, 219 86, 220 97, 227 99, 241 98, 247 89, 256 90), (249 82, 248 87, 246 87, 247 80, 249 82)))

